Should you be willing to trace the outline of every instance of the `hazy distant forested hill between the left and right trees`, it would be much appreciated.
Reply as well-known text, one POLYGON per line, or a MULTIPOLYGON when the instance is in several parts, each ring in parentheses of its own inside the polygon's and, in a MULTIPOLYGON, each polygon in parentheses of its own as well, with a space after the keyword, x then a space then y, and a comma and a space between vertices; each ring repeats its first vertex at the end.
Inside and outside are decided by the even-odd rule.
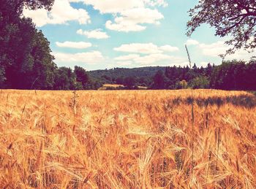
POLYGON ((140 68, 114 68, 114 69, 102 69, 88 72, 89 76, 93 80, 98 80, 103 83, 116 83, 122 82, 125 78, 132 77, 140 80, 140 84, 149 85, 152 82, 152 78, 158 71, 165 72, 166 67, 163 66, 148 66, 140 68))

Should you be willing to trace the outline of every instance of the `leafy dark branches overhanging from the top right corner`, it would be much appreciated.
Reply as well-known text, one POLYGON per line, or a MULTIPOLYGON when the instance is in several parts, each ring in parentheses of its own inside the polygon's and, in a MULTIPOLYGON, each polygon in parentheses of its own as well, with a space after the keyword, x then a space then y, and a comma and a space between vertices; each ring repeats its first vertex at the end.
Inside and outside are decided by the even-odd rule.
MULTIPOLYGON (((187 35, 203 23, 216 28, 217 36, 231 36, 225 43, 233 45, 227 53, 244 47, 256 47, 256 1, 255 0, 200 0, 189 10, 191 20, 187 23, 187 35)), ((224 56, 224 55, 222 55, 224 56)))

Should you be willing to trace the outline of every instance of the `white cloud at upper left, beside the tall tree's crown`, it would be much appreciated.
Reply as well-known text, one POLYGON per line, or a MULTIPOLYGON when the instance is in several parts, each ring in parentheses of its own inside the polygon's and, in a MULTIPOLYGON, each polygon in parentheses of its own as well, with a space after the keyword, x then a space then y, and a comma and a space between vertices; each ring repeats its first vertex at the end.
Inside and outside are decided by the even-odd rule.
POLYGON ((91 22, 85 9, 71 7, 68 0, 56 0, 50 12, 45 9, 24 9, 23 15, 32 18, 38 27, 46 24, 67 24, 69 21, 78 21, 80 24, 91 22))

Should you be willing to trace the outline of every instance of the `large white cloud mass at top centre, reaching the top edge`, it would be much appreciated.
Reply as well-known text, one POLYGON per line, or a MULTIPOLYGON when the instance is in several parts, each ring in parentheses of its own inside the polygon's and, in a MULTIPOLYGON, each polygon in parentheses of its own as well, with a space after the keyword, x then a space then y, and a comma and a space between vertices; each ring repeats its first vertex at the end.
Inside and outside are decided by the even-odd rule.
POLYGON ((157 10, 157 6, 167 7, 165 0, 69 0, 82 1, 99 10, 101 14, 110 13, 115 19, 107 20, 106 28, 113 31, 143 31, 143 24, 159 24, 164 16, 157 10))

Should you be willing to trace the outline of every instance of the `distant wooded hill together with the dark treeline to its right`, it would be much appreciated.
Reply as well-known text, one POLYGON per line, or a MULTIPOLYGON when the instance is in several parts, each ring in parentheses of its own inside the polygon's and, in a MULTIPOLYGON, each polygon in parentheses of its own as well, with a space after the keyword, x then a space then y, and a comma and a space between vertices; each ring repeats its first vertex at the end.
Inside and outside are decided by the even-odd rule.
POLYGON ((213 88, 222 90, 256 90, 256 60, 223 61, 219 66, 190 69, 189 66, 143 67, 136 69, 110 69, 89 72, 101 83, 124 85, 113 89, 183 89, 213 88))

